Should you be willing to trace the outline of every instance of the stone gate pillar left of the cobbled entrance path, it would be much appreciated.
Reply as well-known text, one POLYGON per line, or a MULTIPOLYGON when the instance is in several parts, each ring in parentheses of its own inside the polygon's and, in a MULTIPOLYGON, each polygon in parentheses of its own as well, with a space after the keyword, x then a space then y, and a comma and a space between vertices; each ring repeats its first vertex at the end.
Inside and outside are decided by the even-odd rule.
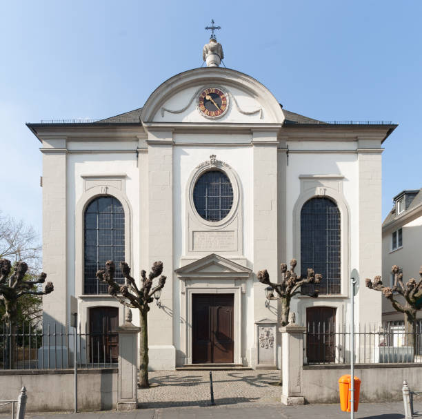
POLYGON ((140 327, 132 324, 132 313, 128 315, 123 326, 117 328, 119 333, 119 374, 117 379, 117 410, 133 410, 138 405, 138 333, 140 327))

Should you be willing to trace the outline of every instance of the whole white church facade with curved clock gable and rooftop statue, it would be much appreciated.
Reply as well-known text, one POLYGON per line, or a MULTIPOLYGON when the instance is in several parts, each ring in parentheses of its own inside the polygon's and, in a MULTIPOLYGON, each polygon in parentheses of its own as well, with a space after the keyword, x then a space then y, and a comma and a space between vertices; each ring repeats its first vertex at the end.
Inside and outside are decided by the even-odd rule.
MULTIPOLYGON (((74 296, 83 331, 116 327, 124 307, 97 269, 125 260, 138 280, 161 260, 152 369, 278 367, 279 310, 261 269, 277 282, 296 258, 297 271, 321 273, 319 298, 299 295, 292 311, 298 324, 334 327, 350 321, 350 271, 381 272, 381 153, 395 125, 285 110, 253 77, 219 67, 215 43, 207 67, 164 81, 143 108, 28 124, 43 153, 43 270, 54 282, 44 322, 68 324, 74 296)), ((356 322, 381 320, 378 293, 361 286, 355 304, 356 322)))

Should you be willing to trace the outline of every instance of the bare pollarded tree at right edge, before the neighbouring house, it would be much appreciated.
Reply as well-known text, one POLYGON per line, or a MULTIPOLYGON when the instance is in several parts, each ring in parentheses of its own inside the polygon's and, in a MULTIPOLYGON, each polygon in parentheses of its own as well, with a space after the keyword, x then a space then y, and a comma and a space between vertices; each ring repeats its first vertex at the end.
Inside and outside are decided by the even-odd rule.
POLYGON ((420 278, 418 282, 411 278, 406 284, 403 284, 403 273, 401 273, 401 269, 397 265, 392 266, 391 273, 394 275, 392 288, 384 286, 379 275, 374 277, 374 281, 366 278, 365 284, 370 289, 381 291, 384 297, 390 300, 396 311, 404 313, 406 341, 408 346, 414 347, 416 344, 414 339, 416 335, 416 312, 422 307, 422 266, 419 270, 420 278), (403 296, 404 304, 394 298, 397 294, 403 296))

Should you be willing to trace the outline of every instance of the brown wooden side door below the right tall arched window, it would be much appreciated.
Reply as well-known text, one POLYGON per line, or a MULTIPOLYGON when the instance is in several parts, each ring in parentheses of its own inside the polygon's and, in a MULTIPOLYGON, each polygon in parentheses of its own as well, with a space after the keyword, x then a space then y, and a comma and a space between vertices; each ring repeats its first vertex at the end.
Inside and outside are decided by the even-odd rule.
POLYGON ((336 309, 306 309, 306 358, 308 362, 334 362, 336 358, 336 309))

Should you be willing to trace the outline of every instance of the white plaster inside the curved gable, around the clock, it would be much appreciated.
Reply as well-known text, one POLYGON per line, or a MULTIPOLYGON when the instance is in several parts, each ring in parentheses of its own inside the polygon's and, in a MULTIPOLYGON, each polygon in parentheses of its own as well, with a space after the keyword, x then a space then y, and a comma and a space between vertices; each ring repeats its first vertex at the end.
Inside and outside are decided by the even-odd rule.
POLYGON ((165 111, 164 115, 161 113, 161 108, 159 112, 154 115, 153 121, 155 122, 209 122, 210 119, 205 118, 197 109, 197 102, 199 97, 199 89, 208 88, 208 87, 217 87, 221 88, 223 92, 229 92, 236 99, 237 105, 243 112, 253 112, 255 110, 262 109, 262 114, 257 112, 254 115, 244 115, 239 112, 237 105, 232 100, 232 97, 229 95, 229 108, 223 117, 218 118, 218 122, 245 122, 248 124, 256 122, 268 122, 269 112, 265 111, 263 104, 259 103, 257 99, 252 97, 248 92, 240 90, 239 88, 234 88, 232 86, 225 86, 224 84, 219 84, 218 82, 210 81, 208 84, 199 84, 190 88, 185 88, 181 92, 177 92, 175 95, 170 97, 167 101, 164 102, 163 108, 169 110, 181 110, 188 106, 186 110, 182 113, 170 113, 165 111), (197 93, 197 95, 195 95, 197 93), (195 97, 194 97, 195 95, 195 97), (193 98, 193 100, 192 100, 193 98), (261 117, 262 116, 262 117, 261 117))

